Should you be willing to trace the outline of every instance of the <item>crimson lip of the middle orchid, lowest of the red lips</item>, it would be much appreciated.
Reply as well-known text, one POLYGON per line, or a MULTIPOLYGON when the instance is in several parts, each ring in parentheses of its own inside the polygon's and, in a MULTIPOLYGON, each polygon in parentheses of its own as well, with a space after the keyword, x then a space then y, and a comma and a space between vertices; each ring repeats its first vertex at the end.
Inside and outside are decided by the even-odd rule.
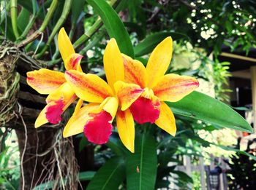
POLYGON ((91 143, 107 143, 112 133, 112 124, 109 123, 112 116, 106 111, 91 114, 91 116, 93 119, 89 120, 83 128, 84 135, 91 143))

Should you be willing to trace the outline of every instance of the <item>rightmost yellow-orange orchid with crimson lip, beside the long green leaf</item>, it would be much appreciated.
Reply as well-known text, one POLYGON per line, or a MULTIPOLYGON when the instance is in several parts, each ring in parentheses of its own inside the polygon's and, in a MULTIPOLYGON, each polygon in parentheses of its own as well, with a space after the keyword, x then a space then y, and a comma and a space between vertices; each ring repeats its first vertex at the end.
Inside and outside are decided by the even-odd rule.
MULTIPOLYGON (((166 74, 173 52, 173 40, 167 37, 155 47, 146 68, 143 63, 127 55, 124 59, 124 82, 140 85, 144 89, 129 110, 139 124, 155 123, 170 135, 176 134, 173 112, 165 101, 176 102, 195 90, 199 83, 191 76, 166 74)), ((123 104, 121 110, 126 108, 123 104)))

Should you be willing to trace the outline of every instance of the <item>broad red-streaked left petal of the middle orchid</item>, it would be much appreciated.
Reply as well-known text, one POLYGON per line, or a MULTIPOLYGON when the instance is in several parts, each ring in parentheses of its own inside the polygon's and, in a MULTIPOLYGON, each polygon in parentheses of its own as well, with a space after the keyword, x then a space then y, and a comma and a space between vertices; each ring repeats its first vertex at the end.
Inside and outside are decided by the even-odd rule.
POLYGON ((105 98, 113 96, 107 82, 95 74, 84 74, 79 71, 66 71, 65 78, 79 98, 94 103, 102 103, 105 98))

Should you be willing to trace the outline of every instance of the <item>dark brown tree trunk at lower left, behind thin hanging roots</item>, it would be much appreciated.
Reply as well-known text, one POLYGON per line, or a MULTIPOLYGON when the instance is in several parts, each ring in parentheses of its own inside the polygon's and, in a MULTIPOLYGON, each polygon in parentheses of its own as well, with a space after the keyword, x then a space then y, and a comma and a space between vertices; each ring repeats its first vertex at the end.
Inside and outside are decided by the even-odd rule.
POLYGON ((20 165, 23 168, 20 175, 20 188, 33 189, 34 186, 47 180, 46 175, 50 170, 47 162, 54 154, 50 147, 53 145, 56 130, 52 128, 36 130, 29 126, 27 132, 20 129, 16 129, 15 132, 20 150, 20 165))

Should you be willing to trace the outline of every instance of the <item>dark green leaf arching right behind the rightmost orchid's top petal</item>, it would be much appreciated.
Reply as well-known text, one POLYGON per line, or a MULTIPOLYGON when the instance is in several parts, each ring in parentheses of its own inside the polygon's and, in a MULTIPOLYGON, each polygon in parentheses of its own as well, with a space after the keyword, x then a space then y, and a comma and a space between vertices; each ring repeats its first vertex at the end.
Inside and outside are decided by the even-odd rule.
POLYGON ((153 33, 141 41, 135 48, 135 56, 146 55, 154 50, 154 48, 167 36, 171 36, 173 40, 186 39, 187 36, 183 33, 175 32, 158 32, 153 33))

